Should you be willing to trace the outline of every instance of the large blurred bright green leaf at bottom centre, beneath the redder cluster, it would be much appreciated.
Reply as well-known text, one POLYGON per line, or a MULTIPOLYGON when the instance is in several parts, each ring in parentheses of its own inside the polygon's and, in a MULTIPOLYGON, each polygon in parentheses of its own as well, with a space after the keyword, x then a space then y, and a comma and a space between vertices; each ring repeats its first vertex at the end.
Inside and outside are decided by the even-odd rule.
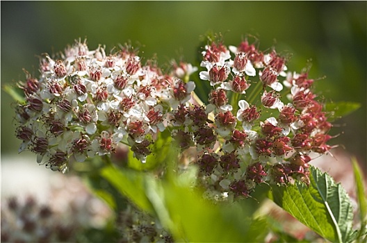
POLYGON ((174 181, 147 181, 147 195, 163 226, 181 242, 262 242, 267 221, 239 203, 213 204, 174 181))

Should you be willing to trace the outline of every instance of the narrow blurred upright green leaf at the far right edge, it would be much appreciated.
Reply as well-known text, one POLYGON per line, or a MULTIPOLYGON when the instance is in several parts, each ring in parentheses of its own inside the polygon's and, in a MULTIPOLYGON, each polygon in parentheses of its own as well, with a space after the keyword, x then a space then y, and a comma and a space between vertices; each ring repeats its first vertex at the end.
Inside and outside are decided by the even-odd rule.
POLYGON ((367 202, 366 202, 366 189, 364 188, 364 178, 361 172, 361 168, 358 165, 357 159, 352 158, 352 165, 354 171, 354 181, 357 186, 357 201, 359 208, 359 217, 361 220, 361 228, 357 239, 361 239, 364 233, 366 233, 367 226, 367 202))

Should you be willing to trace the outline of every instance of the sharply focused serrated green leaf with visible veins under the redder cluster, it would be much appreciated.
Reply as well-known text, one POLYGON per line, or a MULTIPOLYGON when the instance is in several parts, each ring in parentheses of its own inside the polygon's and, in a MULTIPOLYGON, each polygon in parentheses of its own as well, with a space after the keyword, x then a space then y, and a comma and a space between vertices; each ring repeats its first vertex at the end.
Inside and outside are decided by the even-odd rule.
POLYGON ((352 204, 340 183, 319 169, 310 167, 310 185, 272 187, 272 199, 322 237, 347 242, 352 234, 352 204))

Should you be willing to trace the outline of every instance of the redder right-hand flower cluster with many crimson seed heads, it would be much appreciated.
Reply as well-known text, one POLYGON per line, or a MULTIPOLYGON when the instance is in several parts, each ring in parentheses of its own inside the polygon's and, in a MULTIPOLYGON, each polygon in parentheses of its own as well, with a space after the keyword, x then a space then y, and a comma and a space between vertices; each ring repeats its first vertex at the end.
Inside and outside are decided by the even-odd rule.
POLYGON ((209 105, 191 112, 200 111, 192 129, 203 146, 196 164, 207 196, 247 197, 259 183, 290 178, 308 183, 311 154, 327 153, 332 138, 308 71, 288 72, 286 57, 247 40, 238 47, 211 42, 202 56, 199 76, 212 90, 209 105))

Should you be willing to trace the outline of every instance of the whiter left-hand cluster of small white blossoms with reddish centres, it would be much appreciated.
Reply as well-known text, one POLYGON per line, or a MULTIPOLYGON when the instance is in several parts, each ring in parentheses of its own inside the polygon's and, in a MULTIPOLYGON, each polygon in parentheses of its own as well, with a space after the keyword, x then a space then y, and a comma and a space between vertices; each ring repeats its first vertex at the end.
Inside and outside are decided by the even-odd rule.
POLYGON ((58 58, 44 55, 40 77, 26 72, 19 83, 25 94, 16 108, 19 151, 65 172, 70 161, 110 154, 122 142, 145 162, 172 108, 190 99, 195 84, 188 76, 196 70, 180 62, 163 74, 152 61, 142 65, 128 45, 106 55, 104 47, 90 51, 80 40, 58 58))

